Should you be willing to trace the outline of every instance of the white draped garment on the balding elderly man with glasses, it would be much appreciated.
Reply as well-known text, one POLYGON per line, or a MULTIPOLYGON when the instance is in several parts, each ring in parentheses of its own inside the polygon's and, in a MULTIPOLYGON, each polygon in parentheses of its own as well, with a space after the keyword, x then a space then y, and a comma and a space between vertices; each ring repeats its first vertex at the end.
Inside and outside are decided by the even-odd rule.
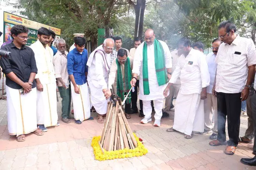
POLYGON ((87 61, 87 81, 91 91, 91 103, 93 104, 97 113, 99 113, 100 115, 104 115, 107 113, 108 100, 106 100, 102 89, 108 88, 110 56, 109 54, 105 54, 104 52, 106 56, 106 60, 104 60, 101 54, 95 54, 95 51, 98 49, 104 51, 102 46, 99 46, 91 53, 87 61))

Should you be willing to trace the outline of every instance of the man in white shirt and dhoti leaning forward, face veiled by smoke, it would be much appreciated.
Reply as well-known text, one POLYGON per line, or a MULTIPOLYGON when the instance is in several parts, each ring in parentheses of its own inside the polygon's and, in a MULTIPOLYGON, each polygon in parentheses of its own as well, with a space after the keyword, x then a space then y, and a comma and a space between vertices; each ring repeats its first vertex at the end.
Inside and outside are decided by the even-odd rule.
POLYGON ((167 96, 169 87, 180 77, 181 88, 175 103, 174 125, 166 131, 180 131, 185 134, 186 139, 193 137, 192 131, 204 131, 204 99, 206 87, 210 84, 204 54, 190 45, 187 37, 178 41, 181 56, 164 91, 164 95, 167 96))

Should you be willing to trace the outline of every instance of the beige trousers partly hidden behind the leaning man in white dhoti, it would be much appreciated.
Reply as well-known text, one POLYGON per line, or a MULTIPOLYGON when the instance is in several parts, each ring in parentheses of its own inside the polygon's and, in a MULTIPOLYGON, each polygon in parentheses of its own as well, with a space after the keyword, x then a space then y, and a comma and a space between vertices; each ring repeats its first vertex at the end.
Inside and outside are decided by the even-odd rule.
POLYGON ((173 84, 170 86, 169 95, 165 98, 165 109, 163 109, 164 112, 168 112, 170 110, 174 95, 177 97, 179 91, 180 84, 173 84))

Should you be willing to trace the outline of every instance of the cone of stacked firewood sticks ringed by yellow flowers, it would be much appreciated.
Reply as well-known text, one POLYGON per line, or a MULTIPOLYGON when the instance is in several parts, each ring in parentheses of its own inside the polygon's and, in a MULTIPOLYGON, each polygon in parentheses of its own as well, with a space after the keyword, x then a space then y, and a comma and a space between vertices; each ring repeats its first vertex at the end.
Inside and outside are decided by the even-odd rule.
POLYGON ((116 151, 137 147, 137 141, 125 117, 121 103, 120 98, 108 103, 107 118, 99 141, 103 153, 104 149, 105 151, 116 151))

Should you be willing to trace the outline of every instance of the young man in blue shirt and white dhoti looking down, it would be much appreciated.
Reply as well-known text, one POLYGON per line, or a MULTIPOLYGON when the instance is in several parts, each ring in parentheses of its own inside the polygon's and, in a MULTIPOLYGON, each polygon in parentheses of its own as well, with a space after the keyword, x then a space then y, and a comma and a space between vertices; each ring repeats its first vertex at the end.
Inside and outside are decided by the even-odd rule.
POLYGON ((67 72, 71 83, 71 95, 74 109, 75 123, 81 124, 82 121, 90 117, 90 98, 88 93, 86 63, 88 53, 85 48, 85 38, 75 37, 75 49, 67 55, 67 72))

